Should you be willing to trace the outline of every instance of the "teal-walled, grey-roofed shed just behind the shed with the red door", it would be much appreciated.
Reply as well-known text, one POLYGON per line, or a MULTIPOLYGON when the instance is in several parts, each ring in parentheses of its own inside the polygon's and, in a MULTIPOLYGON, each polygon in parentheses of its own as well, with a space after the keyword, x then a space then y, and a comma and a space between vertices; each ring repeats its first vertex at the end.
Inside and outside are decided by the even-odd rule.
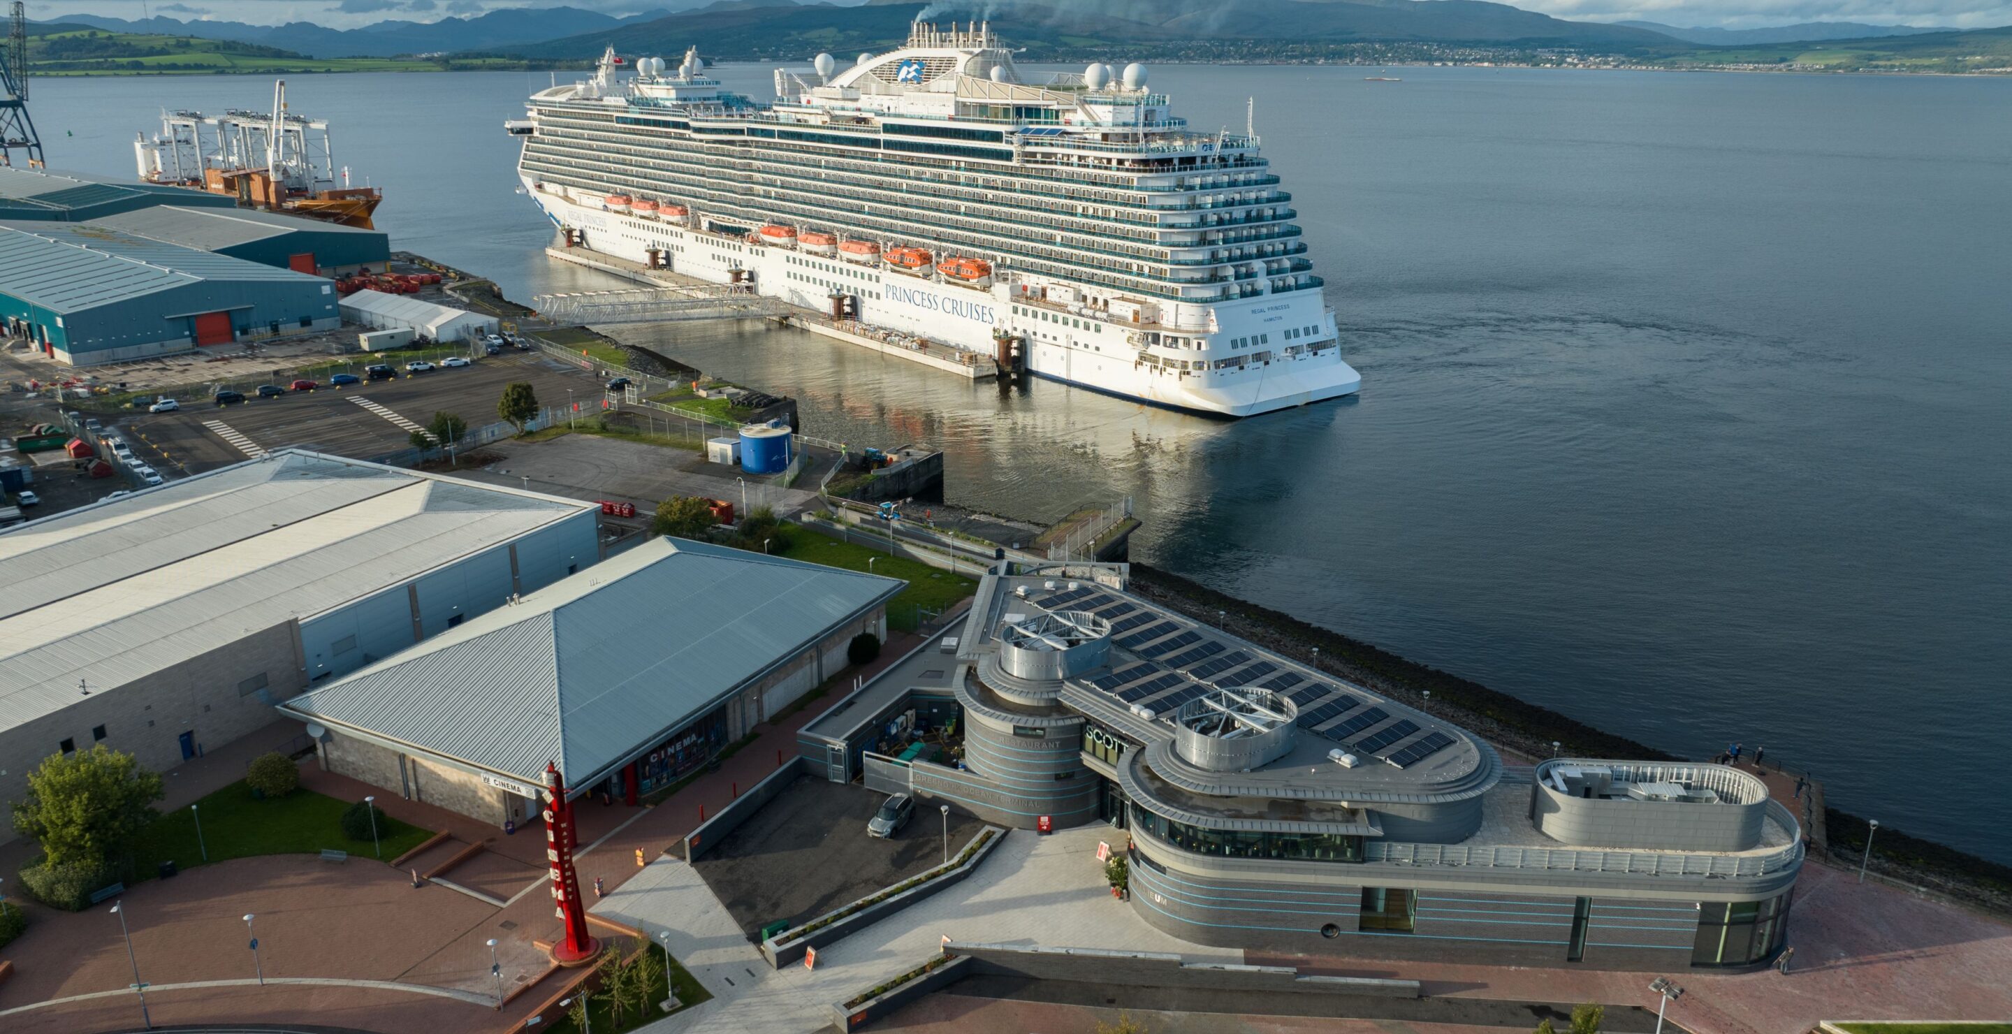
POLYGON ((155 205, 89 225, 300 274, 344 276, 390 262, 390 237, 380 229, 256 209, 155 205))

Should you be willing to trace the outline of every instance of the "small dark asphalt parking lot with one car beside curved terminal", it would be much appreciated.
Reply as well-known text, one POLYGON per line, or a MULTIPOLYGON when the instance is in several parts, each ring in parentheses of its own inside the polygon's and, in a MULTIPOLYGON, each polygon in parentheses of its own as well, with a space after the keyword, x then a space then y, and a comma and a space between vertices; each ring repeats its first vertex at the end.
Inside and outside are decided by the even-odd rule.
MULTIPOLYGON (((777 919, 815 919, 944 861, 944 819, 917 803, 893 839, 867 837, 867 819, 885 795, 849 783, 801 777, 692 865, 757 939, 777 919)), ((984 823, 950 813, 950 849, 984 823)))

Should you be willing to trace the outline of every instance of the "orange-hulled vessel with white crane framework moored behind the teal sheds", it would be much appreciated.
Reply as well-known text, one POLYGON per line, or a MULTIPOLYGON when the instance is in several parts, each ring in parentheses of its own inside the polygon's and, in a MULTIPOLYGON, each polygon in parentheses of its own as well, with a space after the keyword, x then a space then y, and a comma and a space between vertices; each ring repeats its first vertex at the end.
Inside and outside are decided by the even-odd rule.
POLYGON ((145 183, 223 193, 243 207, 362 229, 372 229, 370 217, 384 201, 376 187, 350 187, 348 167, 338 173, 328 123, 290 113, 284 78, 274 84, 270 113, 163 111, 161 133, 141 133, 133 159, 145 183))

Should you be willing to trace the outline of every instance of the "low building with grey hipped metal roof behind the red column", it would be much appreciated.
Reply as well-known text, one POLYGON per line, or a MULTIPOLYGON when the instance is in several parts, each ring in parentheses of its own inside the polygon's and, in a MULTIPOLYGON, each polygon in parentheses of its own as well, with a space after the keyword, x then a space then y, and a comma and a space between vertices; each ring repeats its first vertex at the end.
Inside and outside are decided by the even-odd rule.
POLYGON ((493 823, 571 795, 636 805, 885 638, 891 577, 654 539, 286 700, 320 762, 493 823))

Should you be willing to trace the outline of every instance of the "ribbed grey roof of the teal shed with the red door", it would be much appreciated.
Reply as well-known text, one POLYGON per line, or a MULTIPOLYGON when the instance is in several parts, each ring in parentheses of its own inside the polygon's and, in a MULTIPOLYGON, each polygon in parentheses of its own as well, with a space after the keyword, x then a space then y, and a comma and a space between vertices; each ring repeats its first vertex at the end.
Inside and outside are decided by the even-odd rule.
POLYGON ((0 223, 0 294, 50 312, 80 312, 203 280, 318 278, 97 225, 0 223))

